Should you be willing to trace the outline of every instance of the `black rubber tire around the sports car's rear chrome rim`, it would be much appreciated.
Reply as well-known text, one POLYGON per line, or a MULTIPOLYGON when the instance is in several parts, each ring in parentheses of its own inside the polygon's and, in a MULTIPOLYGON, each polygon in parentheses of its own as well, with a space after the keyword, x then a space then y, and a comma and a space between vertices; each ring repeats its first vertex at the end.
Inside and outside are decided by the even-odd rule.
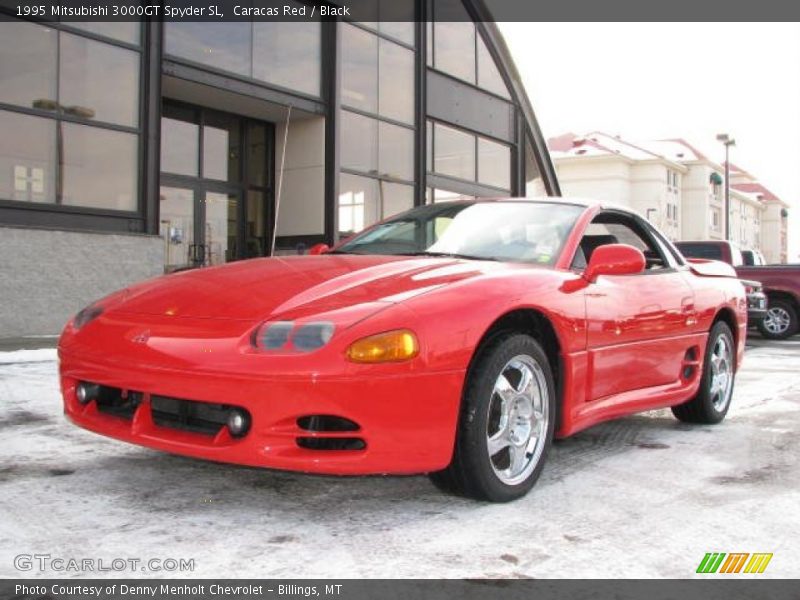
MULTIPOLYGON (((708 334, 708 344, 706 345, 705 357, 703 358, 703 375, 700 379, 700 389, 694 398, 681 404, 672 407, 672 414, 678 420, 685 423, 702 423, 706 425, 713 425, 719 423, 728 414, 728 409, 731 406, 731 397, 733 395, 733 387, 736 377, 736 346, 733 340, 733 333, 731 328, 724 321, 717 321, 711 328, 708 334), (719 394, 715 393, 712 388, 714 381, 714 367, 712 364, 712 355, 717 349, 717 344, 727 344, 730 351, 730 371, 729 376, 730 389, 725 392, 727 399, 724 403, 721 401, 719 394), (715 400, 717 400, 715 402, 715 400)), ((727 389, 727 388, 726 388, 727 389)))

